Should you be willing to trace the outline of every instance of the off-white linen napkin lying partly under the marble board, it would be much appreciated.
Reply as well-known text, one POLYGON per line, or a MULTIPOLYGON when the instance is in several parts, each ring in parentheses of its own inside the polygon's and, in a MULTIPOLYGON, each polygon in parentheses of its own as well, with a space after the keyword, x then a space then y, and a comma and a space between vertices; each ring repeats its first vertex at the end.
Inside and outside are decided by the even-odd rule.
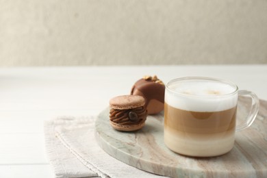
POLYGON ((162 177, 108 155, 94 138, 96 117, 60 117, 44 123, 44 138, 55 177, 162 177))

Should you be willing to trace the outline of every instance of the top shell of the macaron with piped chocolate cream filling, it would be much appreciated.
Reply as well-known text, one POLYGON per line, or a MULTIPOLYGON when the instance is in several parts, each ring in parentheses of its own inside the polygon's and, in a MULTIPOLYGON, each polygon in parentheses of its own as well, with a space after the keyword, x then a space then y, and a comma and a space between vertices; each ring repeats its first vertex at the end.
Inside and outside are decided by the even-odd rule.
POLYGON ((144 104, 144 97, 138 95, 121 95, 110 99, 110 107, 116 110, 129 110, 144 104))

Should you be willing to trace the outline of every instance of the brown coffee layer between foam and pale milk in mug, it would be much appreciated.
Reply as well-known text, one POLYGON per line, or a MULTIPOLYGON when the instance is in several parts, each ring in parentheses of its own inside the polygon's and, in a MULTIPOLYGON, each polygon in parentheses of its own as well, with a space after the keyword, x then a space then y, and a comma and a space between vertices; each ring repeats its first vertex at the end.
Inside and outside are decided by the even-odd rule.
POLYGON ((233 131, 236 127, 236 107, 218 112, 179 110, 165 103, 164 125, 181 132, 209 134, 233 131))

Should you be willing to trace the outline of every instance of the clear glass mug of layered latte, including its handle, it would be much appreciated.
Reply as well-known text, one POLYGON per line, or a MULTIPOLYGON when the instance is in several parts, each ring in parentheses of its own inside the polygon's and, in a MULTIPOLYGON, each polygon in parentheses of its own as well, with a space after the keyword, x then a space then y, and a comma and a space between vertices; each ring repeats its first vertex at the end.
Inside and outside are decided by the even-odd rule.
POLYGON ((236 84, 208 77, 183 77, 166 84, 164 142, 176 153, 194 157, 223 155, 233 148, 235 132, 249 127, 259 99, 236 84), (236 125, 238 96, 251 97, 246 122, 236 125))

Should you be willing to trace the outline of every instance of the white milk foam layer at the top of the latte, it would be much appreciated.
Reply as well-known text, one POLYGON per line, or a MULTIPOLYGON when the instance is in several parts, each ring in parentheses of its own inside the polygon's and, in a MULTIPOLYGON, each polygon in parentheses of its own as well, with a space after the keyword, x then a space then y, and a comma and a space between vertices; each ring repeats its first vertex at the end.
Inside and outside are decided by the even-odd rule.
POLYGON ((220 81, 184 80, 168 84, 165 102, 168 105, 194 112, 218 112, 235 107, 236 87, 220 81))

